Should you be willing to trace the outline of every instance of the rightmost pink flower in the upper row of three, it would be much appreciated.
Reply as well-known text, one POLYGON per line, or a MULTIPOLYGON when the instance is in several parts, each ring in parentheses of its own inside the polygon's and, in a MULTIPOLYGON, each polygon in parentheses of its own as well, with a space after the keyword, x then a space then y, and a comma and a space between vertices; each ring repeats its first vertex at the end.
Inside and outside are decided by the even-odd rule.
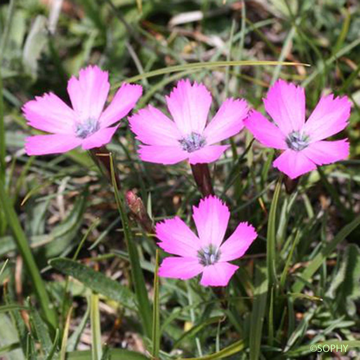
POLYGON ((260 143, 284 152, 274 166, 295 179, 316 168, 346 159, 349 155, 347 139, 324 141, 347 125, 350 102, 343 96, 323 96, 305 122, 305 91, 303 87, 278 80, 264 99, 265 109, 274 122, 258 111, 244 121, 260 143))

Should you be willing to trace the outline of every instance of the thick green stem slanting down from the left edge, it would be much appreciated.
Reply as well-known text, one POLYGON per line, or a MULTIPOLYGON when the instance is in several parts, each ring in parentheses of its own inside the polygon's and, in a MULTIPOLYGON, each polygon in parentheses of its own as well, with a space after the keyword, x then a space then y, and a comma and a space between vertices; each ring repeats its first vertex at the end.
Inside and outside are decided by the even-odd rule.
POLYGON ((5 185, 1 179, 0 179, 0 203, 5 213, 5 216, 8 220, 8 223, 13 230, 14 239, 17 243, 19 252, 29 271, 30 277, 32 279, 32 283, 34 284, 35 287, 35 292, 40 302, 41 309, 44 312, 45 318, 48 321, 48 323, 55 329, 57 327, 56 312, 50 305, 50 299, 48 293, 46 292, 45 284, 41 279, 39 269, 37 268, 35 259, 30 250, 26 236, 24 234, 23 229, 21 228, 21 224, 12 205, 12 201, 8 197, 8 194, 5 192, 5 185))

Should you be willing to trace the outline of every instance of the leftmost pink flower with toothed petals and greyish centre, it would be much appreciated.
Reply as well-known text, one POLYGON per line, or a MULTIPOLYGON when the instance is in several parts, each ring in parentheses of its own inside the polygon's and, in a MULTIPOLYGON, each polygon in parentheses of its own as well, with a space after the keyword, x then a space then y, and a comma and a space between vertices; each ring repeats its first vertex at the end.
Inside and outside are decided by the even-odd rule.
POLYGON ((73 76, 68 81, 72 108, 53 93, 36 96, 24 104, 28 125, 51 133, 26 138, 26 153, 55 154, 79 145, 91 149, 107 144, 117 129, 109 126, 127 115, 142 93, 140 85, 123 84, 103 111, 109 89, 108 73, 88 66, 80 70, 78 79, 73 76))

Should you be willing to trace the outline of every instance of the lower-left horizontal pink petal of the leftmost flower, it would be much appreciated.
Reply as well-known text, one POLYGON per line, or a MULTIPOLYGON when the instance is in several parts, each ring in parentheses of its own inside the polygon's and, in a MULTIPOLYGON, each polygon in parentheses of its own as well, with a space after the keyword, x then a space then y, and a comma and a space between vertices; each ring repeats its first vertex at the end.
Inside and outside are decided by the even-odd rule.
POLYGON ((25 139, 25 151, 29 156, 65 153, 75 149, 81 141, 68 134, 29 136, 25 139))

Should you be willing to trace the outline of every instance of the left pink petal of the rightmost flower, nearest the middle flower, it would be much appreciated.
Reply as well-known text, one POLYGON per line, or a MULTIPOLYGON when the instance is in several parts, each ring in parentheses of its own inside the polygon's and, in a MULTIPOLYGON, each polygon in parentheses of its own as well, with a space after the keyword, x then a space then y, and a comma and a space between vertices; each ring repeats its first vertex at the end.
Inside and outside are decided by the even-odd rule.
POLYGON ((254 110, 244 120, 244 124, 261 144, 275 149, 287 149, 285 135, 260 112, 254 110))

